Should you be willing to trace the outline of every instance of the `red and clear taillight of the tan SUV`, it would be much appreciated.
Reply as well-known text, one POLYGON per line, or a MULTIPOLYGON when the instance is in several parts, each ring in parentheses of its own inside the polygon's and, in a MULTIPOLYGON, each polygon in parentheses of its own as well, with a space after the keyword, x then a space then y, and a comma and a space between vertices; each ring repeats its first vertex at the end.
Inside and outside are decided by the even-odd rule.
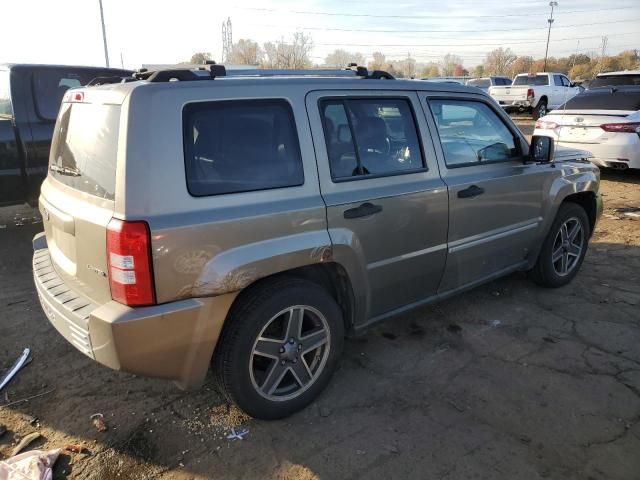
POLYGON ((146 222, 112 218, 107 226, 111 298, 129 306, 155 303, 151 236, 146 222))

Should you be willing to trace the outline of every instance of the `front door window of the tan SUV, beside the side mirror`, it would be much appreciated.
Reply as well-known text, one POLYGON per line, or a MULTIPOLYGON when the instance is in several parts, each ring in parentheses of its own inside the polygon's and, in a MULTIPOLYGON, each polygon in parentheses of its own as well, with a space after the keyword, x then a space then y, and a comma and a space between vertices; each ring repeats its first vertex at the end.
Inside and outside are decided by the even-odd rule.
POLYGON ((513 133, 485 103, 429 100, 447 167, 520 158, 513 133))

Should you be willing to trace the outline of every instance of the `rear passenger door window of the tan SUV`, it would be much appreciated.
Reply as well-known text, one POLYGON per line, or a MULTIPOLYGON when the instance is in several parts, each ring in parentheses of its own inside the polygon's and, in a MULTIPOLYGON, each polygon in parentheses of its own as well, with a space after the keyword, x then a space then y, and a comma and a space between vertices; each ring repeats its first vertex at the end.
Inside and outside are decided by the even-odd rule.
POLYGON ((325 100, 320 104, 320 114, 332 178, 389 175, 424 168, 408 100, 325 100))

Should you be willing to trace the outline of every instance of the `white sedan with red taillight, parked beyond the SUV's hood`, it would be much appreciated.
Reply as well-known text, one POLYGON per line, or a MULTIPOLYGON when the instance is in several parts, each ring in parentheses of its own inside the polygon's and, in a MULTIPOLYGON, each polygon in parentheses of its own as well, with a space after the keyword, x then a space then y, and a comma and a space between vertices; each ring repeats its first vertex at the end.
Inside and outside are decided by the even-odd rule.
POLYGON ((600 167, 640 168, 640 86, 587 90, 540 118, 533 134, 587 150, 600 167))

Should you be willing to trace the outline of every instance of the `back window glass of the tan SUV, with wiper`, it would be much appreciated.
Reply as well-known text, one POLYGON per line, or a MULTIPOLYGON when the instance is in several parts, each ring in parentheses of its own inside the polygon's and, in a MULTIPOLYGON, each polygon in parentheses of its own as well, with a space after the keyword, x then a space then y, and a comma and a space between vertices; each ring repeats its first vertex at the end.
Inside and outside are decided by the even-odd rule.
POLYGON ((119 106, 63 103, 49 175, 76 190, 113 200, 119 124, 119 106))

